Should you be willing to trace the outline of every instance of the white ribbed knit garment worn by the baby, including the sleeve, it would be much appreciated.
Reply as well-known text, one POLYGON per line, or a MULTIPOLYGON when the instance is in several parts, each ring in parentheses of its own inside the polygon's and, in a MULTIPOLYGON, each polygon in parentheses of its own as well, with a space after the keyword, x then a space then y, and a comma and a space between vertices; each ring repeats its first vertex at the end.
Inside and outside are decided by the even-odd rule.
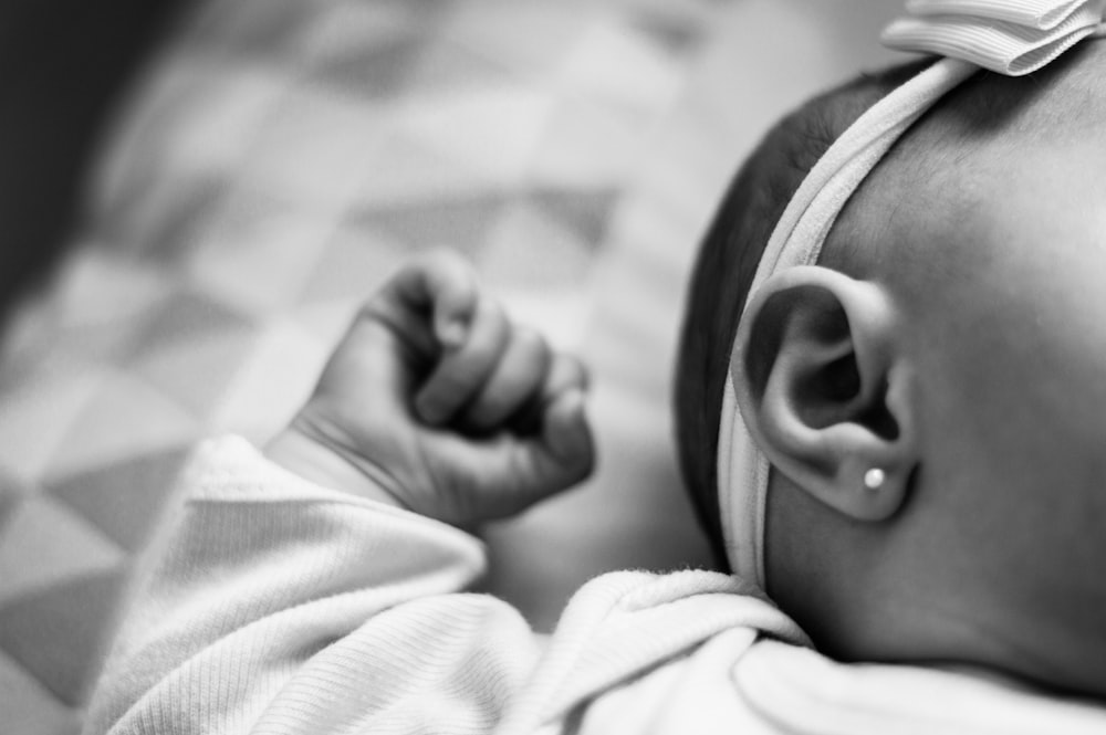
POLYGON ((481 545, 208 444, 85 733, 1091 733, 1106 712, 961 674, 846 666, 707 571, 601 577, 535 636, 466 594, 481 545))

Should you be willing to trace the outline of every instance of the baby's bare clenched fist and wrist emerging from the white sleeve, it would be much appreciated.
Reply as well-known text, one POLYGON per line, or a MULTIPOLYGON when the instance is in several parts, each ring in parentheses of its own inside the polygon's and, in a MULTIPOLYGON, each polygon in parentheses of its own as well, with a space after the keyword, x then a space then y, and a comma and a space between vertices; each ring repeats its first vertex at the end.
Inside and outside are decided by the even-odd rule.
POLYGON ((591 473, 585 384, 578 363, 510 323, 465 261, 437 253, 362 307, 265 451, 320 484, 479 523, 591 473))

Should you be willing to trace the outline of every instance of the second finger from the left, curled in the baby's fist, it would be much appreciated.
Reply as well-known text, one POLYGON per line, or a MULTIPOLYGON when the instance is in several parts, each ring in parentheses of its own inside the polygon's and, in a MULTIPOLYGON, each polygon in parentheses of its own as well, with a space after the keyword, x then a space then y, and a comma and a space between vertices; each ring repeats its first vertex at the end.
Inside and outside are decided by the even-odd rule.
POLYGON ((441 357, 415 397, 419 417, 430 424, 451 420, 491 378, 509 336, 503 309, 491 298, 479 297, 460 342, 442 340, 441 357))

